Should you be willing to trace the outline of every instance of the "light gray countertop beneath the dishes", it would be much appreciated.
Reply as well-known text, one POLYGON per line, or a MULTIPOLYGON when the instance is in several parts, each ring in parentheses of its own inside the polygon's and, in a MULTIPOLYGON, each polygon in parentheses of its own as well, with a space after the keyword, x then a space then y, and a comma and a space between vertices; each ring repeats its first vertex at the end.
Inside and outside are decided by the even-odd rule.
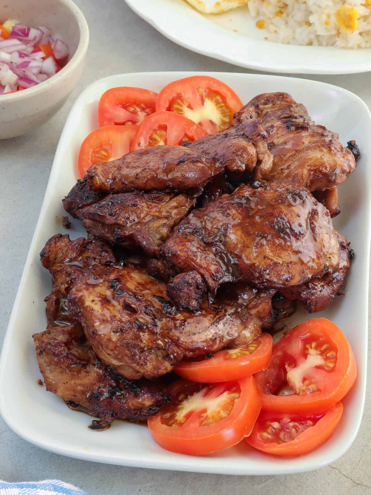
MULTIPOLYGON (((59 136, 71 105, 81 91, 96 79, 123 72, 252 72, 175 45, 133 13, 123 0, 75 1, 83 10, 91 33, 83 77, 66 105, 48 124, 28 136, 0 141, 0 347, 59 136)), ((306 77, 346 88, 371 107, 371 73, 306 77)), ((0 419, 0 479, 16 482, 58 478, 81 487, 89 495, 219 495, 231 491, 250 495, 371 493, 370 422, 371 400, 368 396, 361 430, 353 446, 341 459, 319 471, 280 477, 232 477, 126 468, 69 459, 21 440, 0 419)))

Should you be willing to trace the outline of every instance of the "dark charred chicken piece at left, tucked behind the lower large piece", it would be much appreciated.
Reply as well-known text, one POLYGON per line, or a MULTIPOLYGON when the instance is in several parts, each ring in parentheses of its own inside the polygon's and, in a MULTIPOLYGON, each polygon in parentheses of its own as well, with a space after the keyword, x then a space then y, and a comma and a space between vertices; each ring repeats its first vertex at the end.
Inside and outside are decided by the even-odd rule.
POLYGON ((70 240, 68 234, 51 237, 40 253, 44 268, 51 274, 52 291, 46 297, 48 323, 60 320, 75 321, 67 308, 67 294, 84 268, 94 264, 113 264, 116 258, 105 243, 80 237, 70 240))

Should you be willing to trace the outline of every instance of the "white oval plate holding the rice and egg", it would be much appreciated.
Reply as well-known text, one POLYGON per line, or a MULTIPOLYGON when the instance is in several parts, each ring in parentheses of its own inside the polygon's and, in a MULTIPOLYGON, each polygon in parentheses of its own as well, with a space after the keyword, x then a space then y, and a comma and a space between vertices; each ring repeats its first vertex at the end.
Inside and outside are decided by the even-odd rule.
POLYGON ((371 49, 303 47, 265 41, 264 31, 255 26, 256 19, 249 15, 247 7, 203 15, 184 0, 125 1, 178 45, 241 67, 291 74, 353 74, 371 70, 371 49))

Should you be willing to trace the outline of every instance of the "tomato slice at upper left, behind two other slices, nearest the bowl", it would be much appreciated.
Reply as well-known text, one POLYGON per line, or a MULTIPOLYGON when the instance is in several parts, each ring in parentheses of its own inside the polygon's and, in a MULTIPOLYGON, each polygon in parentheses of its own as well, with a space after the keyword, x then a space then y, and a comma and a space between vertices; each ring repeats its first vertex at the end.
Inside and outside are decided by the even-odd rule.
POLYGON ((155 111, 157 93, 142 88, 119 87, 107 90, 98 104, 98 126, 139 125, 155 111))

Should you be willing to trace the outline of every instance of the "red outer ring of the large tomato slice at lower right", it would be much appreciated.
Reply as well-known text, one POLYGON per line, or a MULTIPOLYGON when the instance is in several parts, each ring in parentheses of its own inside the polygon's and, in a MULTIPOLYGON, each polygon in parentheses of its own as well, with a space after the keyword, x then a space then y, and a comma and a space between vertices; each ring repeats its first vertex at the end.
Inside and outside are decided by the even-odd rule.
MULTIPOLYGON (((295 354, 295 351, 294 351, 295 354)), ((255 375, 256 384, 262 397, 262 409, 285 413, 316 413, 325 411, 341 400, 353 387, 357 377, 357 364, 352 348, 344 334, 326 318, 308 320, 287 332, 275 346, 269 366, 255 375), (285 352, 299 346, 300 336, 327 335, 337 347, 337 362, 321 383, 322 391, 308 395, 297 394, 275 396, 273 391, 284 382, 285 352)))

